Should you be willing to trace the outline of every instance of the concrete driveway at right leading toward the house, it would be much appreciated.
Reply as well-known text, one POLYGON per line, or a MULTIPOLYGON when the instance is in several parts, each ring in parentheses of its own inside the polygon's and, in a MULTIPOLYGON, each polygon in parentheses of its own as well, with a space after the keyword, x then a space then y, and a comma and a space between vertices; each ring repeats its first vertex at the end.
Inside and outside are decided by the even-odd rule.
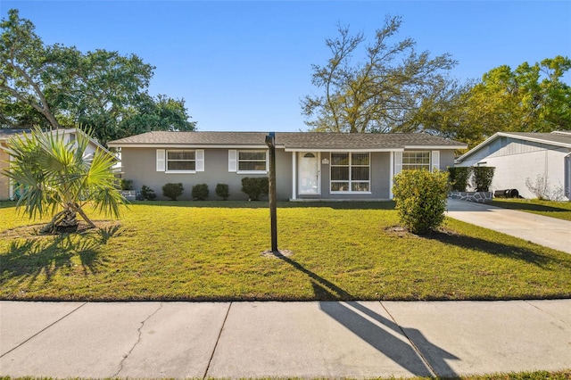
POLYGON ((448 199, 446 215, 561 252, 571 253, 571 221, 458 199, 448 199))

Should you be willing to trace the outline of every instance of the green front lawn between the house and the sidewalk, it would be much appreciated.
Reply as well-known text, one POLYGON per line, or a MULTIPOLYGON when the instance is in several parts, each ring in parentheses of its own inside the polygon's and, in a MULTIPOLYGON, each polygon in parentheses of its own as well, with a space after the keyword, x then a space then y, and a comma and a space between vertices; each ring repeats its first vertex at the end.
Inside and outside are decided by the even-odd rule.
MULTIPOLYGON (((137 202, 83 234, 22 232, 0 207, 4 300, 506 300, 571 296, 571 255, 447 219, 393 231, 392 202, 137 202)), ((96 219, 96 218, 95 218, 96 219)))

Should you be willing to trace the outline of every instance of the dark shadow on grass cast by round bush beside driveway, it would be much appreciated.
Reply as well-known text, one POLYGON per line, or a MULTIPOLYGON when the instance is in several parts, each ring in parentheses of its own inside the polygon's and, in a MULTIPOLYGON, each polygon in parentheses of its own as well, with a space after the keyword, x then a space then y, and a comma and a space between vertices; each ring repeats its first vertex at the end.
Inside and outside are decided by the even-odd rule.
POLYGON ((454 235, 440 231, 434 231, 431 234, 422 235, 422 237, 437 240, 444 244, 451 244, 461 248, 485 252, 493 256, 502 256, 509 259, 523 260, 542 269, 550 269, 550 264, 563 265, 566 268, 571 268, 571 263, 568 261, 555 259, 551 256, 543 255, 533 250, 529 250, 527 248, 519 247, 516 245, 496 243, 473 236, 454 235))

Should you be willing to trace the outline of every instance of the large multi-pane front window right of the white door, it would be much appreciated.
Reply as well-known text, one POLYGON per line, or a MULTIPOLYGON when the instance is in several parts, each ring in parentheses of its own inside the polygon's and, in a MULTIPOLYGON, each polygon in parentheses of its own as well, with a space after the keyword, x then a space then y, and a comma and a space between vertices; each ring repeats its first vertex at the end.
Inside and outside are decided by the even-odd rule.
POLYGON ((331 191, 370 191, 368 153, 331 153, 331 191))

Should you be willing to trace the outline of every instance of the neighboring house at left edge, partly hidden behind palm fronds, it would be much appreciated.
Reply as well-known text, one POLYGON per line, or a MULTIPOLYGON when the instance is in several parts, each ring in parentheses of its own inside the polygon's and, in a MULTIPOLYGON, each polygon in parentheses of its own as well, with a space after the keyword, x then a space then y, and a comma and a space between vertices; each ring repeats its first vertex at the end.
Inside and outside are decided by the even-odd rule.
MULTIPOLYGON (((63 134, 63 141, 69 143, 74 141, 77 134, 85 133, 77 128, 67 128, 67 129, 54 129, 53 131, 58 131, 58 133, 63 134)), ((4 129, 0 128, 0 201, 5 201, 8 199, 14 199, 14 189, 10 178, 6 177, 3 173, 4 169, 8 169, 10 166, 10 161, 12 157, 6 152, 8 142, 14 136, 22 135, 24 133, 30 133, 30 129, 4 129)), ((89 145, 87 146, 86 153, 95 153, 96 150, 101 149, 104 152, 112 154, 107 149, 97 143, 93 138, 89 139, 89 145)))

